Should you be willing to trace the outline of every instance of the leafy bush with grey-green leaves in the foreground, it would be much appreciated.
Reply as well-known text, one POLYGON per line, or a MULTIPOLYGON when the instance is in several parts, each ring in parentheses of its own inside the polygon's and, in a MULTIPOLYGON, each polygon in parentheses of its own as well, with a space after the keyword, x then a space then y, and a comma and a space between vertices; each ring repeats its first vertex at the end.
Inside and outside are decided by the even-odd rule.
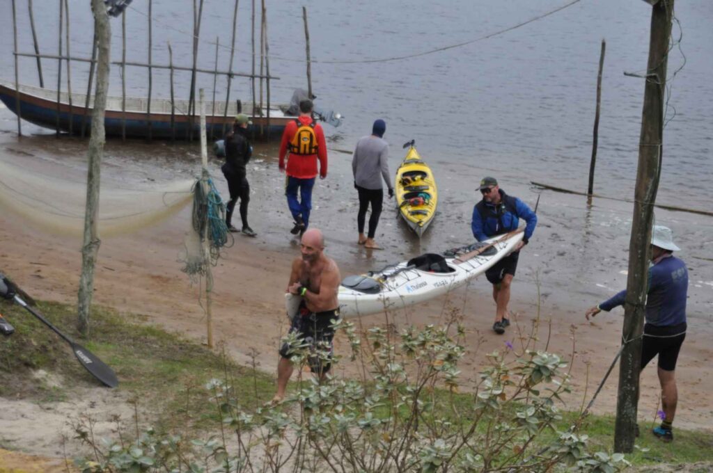
MULTIPOLYGON (((512 345, 493 352, 462 402, 454 397, 464 383, 461 327, 411 327, 398 336, 374 327, 364 341, 352 323, 337 321, 335 328, 346 333, 352 360, 371 373, 368 382, 315 377, 279 405, 249 409, 230 380, 212 380, 206 388, 219 414, 215 435, 197 440, 147 430, 133 442, 97 442, 91 422, 81 422, 76 432, 96 453, 79 462, 81 469, 608 473, 628 465, 623 455, 589 452, 580 422, 557 432, 558 400, 568 391, 559 355, 518 354, 512 345)), ((300 368, 329 358, 327 347, 314 350, 294 336, 284 341, 300 368)))

